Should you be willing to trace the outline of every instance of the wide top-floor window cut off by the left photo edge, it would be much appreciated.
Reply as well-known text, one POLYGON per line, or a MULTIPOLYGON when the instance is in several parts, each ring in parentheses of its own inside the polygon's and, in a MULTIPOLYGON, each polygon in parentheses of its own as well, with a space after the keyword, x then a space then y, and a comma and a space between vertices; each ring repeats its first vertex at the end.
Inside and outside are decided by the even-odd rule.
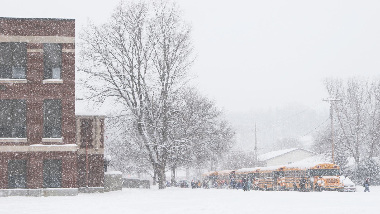
POLYGON ((26 43, 0 42, 0 78, 26 78, 26 43))

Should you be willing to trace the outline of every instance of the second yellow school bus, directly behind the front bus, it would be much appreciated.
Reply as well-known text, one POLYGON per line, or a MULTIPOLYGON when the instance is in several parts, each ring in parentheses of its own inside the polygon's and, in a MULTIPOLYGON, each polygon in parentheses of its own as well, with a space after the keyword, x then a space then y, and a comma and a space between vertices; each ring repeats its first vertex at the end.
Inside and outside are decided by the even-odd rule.
MULTIPOLYGON (((284 175, 285 166, 267 166, 258 170, 256 178, 258 190, 277 190, 280 180, 284 175)), ((255 188, 254 188, 255 190, 255 188)))

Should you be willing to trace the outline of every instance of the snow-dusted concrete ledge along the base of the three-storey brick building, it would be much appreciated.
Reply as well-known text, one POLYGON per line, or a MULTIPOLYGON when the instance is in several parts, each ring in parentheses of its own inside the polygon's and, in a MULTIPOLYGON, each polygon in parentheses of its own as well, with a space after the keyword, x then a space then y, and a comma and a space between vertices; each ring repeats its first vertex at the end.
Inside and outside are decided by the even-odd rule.
POLYGON ((47 188, 47 189, 5 189, 0 190, 1 196, 73 196, 78 195, 77 188, 47 188))

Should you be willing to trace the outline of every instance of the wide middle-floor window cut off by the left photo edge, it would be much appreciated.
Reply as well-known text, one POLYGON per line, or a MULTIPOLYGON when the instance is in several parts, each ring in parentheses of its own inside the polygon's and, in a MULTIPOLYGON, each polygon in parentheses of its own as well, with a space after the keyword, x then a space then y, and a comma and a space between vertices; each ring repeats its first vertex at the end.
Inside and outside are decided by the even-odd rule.
POLYGON ((0 99, 0 137, 26 137, 24 99, 0 99))

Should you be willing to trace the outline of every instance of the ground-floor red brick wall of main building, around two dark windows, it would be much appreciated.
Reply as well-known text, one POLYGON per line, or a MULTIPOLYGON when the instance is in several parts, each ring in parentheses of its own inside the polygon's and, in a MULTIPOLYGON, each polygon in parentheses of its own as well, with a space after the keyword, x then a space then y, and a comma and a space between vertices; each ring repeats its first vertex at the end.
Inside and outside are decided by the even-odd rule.
POLYGON ((0 189, 8 188, 8 160, 27 160, 27 188, 43 188, 43 160, 62 160, 62 188, 77 187, 76 152, 0 152, 0 189))

